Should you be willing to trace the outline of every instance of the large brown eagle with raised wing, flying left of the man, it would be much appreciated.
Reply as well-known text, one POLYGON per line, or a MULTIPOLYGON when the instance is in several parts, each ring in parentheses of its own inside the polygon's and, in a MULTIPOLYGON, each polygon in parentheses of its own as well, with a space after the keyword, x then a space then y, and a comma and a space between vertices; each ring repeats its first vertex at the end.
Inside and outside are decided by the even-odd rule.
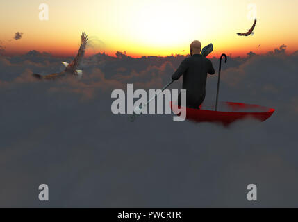
POLYGON ((65 70, 61 71, 58 74, 49 74, 49 75, 40 75, 40 74, 32 74, 33 77, 38 79, 44 79, 44 80, 55 80, 57 78, 63 78, 66 76, 76 76, 76 78, 80 79, 83 76, 83 71, 78 70, 78 65, 80 64, 81 60, 84 57, 86 44, 88 41, 88 36, 85 33, 82 33, 81 36, 81 46, 80 49, 78 49, 78 54, 76 55, 76 58, 72 61, 72 63, 62 62, 63 65, 65 65, 65 70))

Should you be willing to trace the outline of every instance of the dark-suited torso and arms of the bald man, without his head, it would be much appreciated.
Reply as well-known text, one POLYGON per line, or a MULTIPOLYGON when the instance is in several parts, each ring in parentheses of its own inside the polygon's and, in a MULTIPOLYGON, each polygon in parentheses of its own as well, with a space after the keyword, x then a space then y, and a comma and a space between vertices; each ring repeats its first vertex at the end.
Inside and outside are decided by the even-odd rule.
POLYGON ((201 54, 185 58, 172 76, 178 80, 183 75, 183 89, 186 89, 186 103, 198 107, 205 99, 207 74, 215 74, 212 62, 201 54))

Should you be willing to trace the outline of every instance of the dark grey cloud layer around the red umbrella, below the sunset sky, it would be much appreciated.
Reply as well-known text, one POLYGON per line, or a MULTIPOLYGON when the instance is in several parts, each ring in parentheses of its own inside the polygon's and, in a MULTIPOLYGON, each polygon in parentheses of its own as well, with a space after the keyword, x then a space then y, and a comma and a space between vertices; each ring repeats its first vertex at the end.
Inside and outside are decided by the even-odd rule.
MULTIPOLYGON (((85 58, 81 81, 38 82, 31 73, 64 69, 48 53, 0 56, 1 207, 298 207, 298 52, 285 46, 259 56, 228 58, 220 101, 276 109, 258 123, 230 128, 113 115, 113 89, 163 87, 183 56, 85 58), (49 203, 38 185, 49 185, 49 203), (246 199, 248 184, 258 201, 246 199)), ((216 58, 211 58, 218 69, 216 58)), ((214 104, 217 75, 206 102, 214 104)), ((181 88, 181 80, 172 89, 181 88)))

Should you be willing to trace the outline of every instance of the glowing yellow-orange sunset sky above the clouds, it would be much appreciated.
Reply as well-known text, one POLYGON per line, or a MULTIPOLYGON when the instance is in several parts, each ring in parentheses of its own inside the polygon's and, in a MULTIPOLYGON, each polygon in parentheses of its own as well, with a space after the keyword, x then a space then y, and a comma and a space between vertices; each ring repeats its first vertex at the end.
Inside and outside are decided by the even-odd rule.
POLYGON ((130 56, 188 54, 192 40, 213 43, 210 56, 266 53, 285 44, 298 50, 297 0, 18 0, 0 2, 0 45, 4 55, 46 51, 74 56, 81 32, 90 36, 87 56, 126 51, 130 56), (40 21, 47 3, 49 20, 40 21), (249 7, 253 3, 256 7, 249 7), (255 35, 237 32, 258 22, 255 35), (14 40, 22 32, 20 40, 14 40), (260 45, 260 46, 259 46, 260 45))

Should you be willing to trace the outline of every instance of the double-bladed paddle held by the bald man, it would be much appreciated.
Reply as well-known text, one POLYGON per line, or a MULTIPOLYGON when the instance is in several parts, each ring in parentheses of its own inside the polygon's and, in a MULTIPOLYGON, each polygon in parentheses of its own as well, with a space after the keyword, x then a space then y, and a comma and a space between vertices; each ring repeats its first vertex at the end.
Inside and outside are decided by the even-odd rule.
MULTIPOLYGON (((213 51, 213 44, 210 43, 208 44, 208 46, 205 46, 202 51, 201 51, 201 55, 206 57, 208 56, 211 52, 213 51)), ((133 114, 131 114, 129 116, 129 121, 133 122, 135 121, 135 118, 138 117, 139 114, 142 114, 142 110, 144 110, 144 108, 147 107, 147 105, 154 100, 160 93, 162 93, 165 89, 167 89, 167 87, 169 87, 169 85, 171 85, 174 82, 174 80, 171 80, 169 83, 167 83, 167 85, 165 85, 165 87, 163 87, 163 89, 161 89, 157 94, 155 94, 155 96, 153 96, 151 99, 149 99, 149 101, 147 101, 147 103, 145 103, 143 106, 140 105, 139 107, 135 107, 135 109, 133 110, 133 114)))

